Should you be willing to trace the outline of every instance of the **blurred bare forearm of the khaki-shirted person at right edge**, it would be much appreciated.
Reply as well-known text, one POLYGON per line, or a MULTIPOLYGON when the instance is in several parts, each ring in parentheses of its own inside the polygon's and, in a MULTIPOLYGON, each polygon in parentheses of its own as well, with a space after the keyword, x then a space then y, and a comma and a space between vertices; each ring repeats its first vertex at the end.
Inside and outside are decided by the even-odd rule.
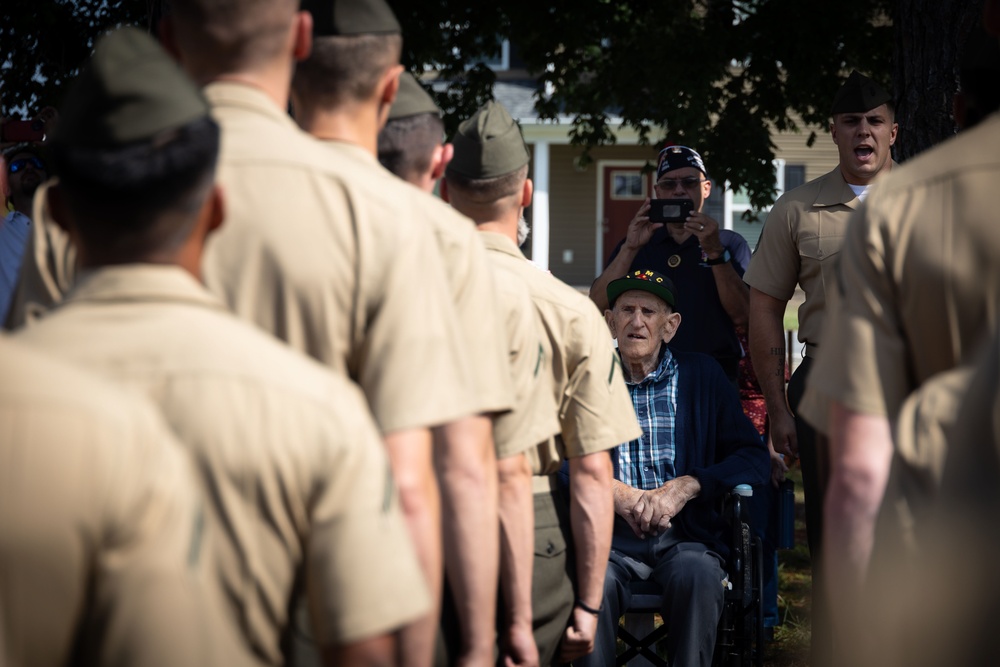
POLYGON ((830 487, 824 505, 823 562, 834 632, 849 639, 889 480, 889 420, 830 408, 830 487))

